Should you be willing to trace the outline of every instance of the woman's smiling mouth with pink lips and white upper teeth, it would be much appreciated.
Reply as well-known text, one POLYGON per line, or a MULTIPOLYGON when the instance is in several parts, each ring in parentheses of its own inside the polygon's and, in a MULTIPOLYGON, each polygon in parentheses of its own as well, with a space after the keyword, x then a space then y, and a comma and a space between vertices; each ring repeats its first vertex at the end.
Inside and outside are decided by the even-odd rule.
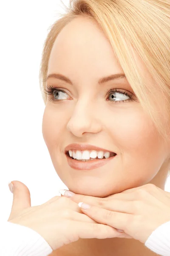
POLYGON ((71 144, 65 148, 69 166, 79 170, 98 168, 112 160, 116 153, 92 145, 71 144))

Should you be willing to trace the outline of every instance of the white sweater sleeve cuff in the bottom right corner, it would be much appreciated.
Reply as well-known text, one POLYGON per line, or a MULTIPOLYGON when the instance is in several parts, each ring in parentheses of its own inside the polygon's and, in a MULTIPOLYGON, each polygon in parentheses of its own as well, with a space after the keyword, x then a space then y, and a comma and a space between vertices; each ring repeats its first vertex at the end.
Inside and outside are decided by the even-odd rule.
POLYGON ((144 245, 161 256, 170 256, 170 221, 157 227, 144 245))

